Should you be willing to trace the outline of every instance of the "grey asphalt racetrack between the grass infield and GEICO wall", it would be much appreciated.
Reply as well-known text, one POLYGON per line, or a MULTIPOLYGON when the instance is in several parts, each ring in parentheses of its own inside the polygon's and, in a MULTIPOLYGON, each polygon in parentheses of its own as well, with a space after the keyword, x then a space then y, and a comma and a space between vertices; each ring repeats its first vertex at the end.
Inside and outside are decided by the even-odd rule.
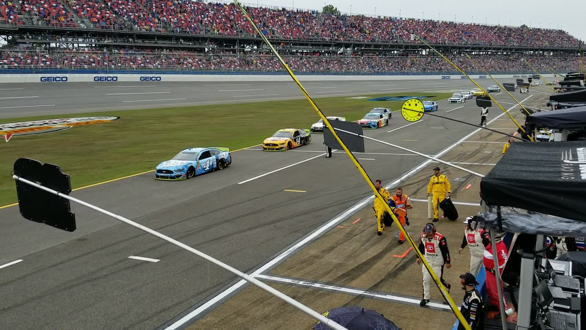
MULTIPOLYGON (((492 80, 483 79, 482 82, 486 86, 492 85, 492 80)), ((322 81, 306 82, 304 86, 312 97, 451 91, 460 86, 475 87, 467 79, 322 81)), ((0 118, 303 97, 298 87, 287 81, 14 83, 0 84, 0 118)))

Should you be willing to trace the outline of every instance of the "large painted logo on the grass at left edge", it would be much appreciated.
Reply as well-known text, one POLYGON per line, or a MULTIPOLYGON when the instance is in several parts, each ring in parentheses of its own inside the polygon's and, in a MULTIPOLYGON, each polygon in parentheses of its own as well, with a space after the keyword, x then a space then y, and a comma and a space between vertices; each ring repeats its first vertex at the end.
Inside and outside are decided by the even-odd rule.
POLYGON ((0 124, 0 137, 8 142, 12 136, 43 134, 70 129, 73 126, 108 123, 120 117, 77 117, 34 120, 32 122, 0 124))

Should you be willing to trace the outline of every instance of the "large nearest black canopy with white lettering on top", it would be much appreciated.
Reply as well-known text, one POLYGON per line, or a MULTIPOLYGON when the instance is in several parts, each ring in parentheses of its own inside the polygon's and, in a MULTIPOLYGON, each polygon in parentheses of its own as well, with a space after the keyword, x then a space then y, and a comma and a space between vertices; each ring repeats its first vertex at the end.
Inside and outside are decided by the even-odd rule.
POLYGON ((482 218, 514 233, 586 232, 586 141, 512 143, 482 178, 482 218))

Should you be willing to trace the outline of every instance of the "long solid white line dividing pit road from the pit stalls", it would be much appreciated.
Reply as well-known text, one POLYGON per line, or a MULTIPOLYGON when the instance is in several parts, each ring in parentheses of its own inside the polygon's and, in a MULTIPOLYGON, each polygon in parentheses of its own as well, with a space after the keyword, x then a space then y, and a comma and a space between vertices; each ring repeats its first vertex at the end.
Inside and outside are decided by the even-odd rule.
MULTIPOLYGON (((525 102, 527 99, 529 99, 529 97, 532 97, 532 96, 533 95, 527 96, 525 99, 523 99, 521 101, 521 103, 525 102)), ((510 110, 512 110, 512 109, 514 109, 515 107, 516 106, 510 107, 509 110, 507 110, 507 112, 510 111, 510 110)), ((505 115, 505 113, 500 114, 496 118, 499 118, 500 116, 503 116, 503 115, 505 115)), ((492 122, 492 120, 490 120, 490 122, 492 122)), ((434 157, 435 158, 438 158, 438 157, 443 156, 445 153, 447 153, 448 151, 450 151, 450 150, 454 149, 456 146, 458 146, 462 141, 465 141, 465 140, 469 139, 469 137, 471 137, 474 134, 480 132, 480 130, 481 130, 481 128, 478 128, 478 129, 473 130, 468 135, 462 137, 462 139, 458 140, 457 142, 451 144, 450 146, 448 146, 444 150, 442 150, 439 153, 435 154, 434 157)), ((289 150, 289 151, 291 151, 291 150, 289 150)), ((325 155, 325 153, 322 153, 321 155, 319 155, 317 157, 321 157, 323 155, 325 155)), ((425 166, 427 166, 430 163, 431 163, 431 160, 424 161, 419 166, 417 166, 414 169, 412 169, 412 170, 408 171, 407 173, 403 174, 403 176, 401 176, 398 179, 394 180, 393 182, 387 184, 385 186, 385 188, 389 189, 391 187, 394 187, 396 184, 399 184, 399 183, 401 183, 401 181, 407 179, 408 177, 413 176, 414 173, 417 173, 418 171, 420 171, 421 169, 423 169, 425 166)), ((299 248, 301 248, 305 244, 308 244, 311 241, 314 241, 316 237, 319 237, 324 231, 328 230, 329 227, 332 227, 333 225, 338 224, 340 222, 340 220, 349 217, 350 215, 352 215, 356 211, 360 210, 360 208, 363 208, 366 204, 371 203, 373 199, 374 199, 374 195, 371 195, 371 196, 369 196, 367 198, 364 198, 362 201, 359 201, 354 206, 348 208, 342 214, 339 214, 337 217, 332 218, 332 220, 331 221, 328 221, 328 223, 325 223, 321 227, 316 228, 316 230, 313 233, 307 235, 307 237, 305 237, 303 240, 297 242, 295 245, 293 245, 292 247, 288 248, 286 251, 282 252, 277 257, 275 257, 272 260, 268 261, 266 264, 264 264, 260 268, 258 268, 258 270, 252 272, 251 273, 251 276, 256 277, 257 275, 263 274, 263 272, 269 270, 275 264, 278 264, 278 262, 281 262, 281 260, 284 260, 285 258, 289 257, 291 254, 294 254, 295 252, 297 252, 297 250, 299 250, 299 248)), ((425 200, 425 202, 427 202, 427 200, 425 200)), ((202 304, 200 307, 197 307, 196 309, 194 309, 193 311, 191 311, 189 314, 183 316, 183 318, 179 319, 178 321, 176 321, 172 325, 168 326, 166 328, 166 330, 174 330, 174 329, 179 328, 180 326, 182 326, 183 324, 185 324, 186 322, 188 322, 190 319, 195 318, 195 316, 197 316, 199 314, 202 314, 202 312, 205 312, 206 309, 208 309, 208 308, 212 307, 213 305, 217 304, 218 302, 222 301, 224 298, 226 298, 232 292, 237 291, 238 289, 240 289, 241 287, 243 287, 243 285, 245 285, 246 283, 247 283, 246 280, 240 280, 240 281, 236 282, 236 284, 233 284, 231 287, 229 287, 226 290, 220 292, 220 294, 216 295, 212 299, 209 299, 204 304, 202 304)))

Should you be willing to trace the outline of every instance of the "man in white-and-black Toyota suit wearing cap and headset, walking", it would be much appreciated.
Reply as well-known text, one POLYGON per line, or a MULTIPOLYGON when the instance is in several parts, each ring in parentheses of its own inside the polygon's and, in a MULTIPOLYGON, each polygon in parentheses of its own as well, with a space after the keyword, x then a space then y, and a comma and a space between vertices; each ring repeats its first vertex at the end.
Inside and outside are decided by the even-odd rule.
MULTIPOLYGON (((452 267, 449 259, 448 242, 444 235, 435 231, 435 226, 431 223, 428 223, 423 227, 423 233, 421 233, 421 240, 419 242, 419 251, 423 254, 427 263, 430 264, 435 275, 440 277, 440 281, 445 285, 449 292, 451 285, 444 281, 444 264, 446 268, 452 267)), ((417 258, 417 264, 421 264, 420 258, 417 258)), ((427 268, 425 268, 425 265, 423 265, 422 272, 423 299, 421 299, 419 304, 425 306, 425 304, 430 302, 430 287, 433 278, 431 277, 430 272, 427 271, 427 268)))

